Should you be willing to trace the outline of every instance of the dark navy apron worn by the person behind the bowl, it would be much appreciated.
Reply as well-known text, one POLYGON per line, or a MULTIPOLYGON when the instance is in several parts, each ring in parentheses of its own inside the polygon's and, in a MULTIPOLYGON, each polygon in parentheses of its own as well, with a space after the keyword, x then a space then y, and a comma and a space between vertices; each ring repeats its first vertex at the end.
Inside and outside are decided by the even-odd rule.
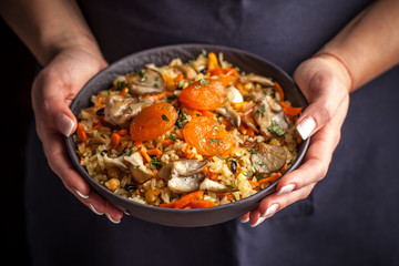
MULTIPOLYGON (((109 62, 175 43, 224 44, 288 73, 369 1, 81 1, 109 62)), ((176 228, 81 204, 49 168, 32 124, 27 217, 34 265, 398 265, 399 68, 351 95, 342 139, 313 194, 252 228, 176 228)))

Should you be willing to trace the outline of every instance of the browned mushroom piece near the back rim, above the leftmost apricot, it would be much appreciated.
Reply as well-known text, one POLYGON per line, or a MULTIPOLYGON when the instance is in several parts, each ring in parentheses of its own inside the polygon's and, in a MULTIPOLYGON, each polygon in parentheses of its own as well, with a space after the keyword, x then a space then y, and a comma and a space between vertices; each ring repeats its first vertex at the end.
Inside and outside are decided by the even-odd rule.
POLYGON ((136 73, 126 74, 129 91, 134 95, 161 93, 165 91, 165 82, 160 72, 142 69, 136 73))

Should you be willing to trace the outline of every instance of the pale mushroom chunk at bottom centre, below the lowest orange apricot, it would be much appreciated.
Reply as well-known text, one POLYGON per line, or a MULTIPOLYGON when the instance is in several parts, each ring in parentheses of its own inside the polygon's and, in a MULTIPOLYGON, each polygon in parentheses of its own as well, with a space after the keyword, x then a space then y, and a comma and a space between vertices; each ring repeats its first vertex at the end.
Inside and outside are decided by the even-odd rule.
POLYGON ((168 180, 167 186, 175 193, 188 193, 198 190, 204 175, 201 171, 207 161, 178 160, 164 165, 158 171, 158 176, 168 180))

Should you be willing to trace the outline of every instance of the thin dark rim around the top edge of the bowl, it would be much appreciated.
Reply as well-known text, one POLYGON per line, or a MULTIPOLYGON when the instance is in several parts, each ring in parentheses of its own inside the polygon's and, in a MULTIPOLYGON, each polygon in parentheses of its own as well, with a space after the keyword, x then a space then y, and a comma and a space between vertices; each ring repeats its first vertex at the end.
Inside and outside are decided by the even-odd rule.
MULTIPOLYGON (((265 58, 262 58, 257 54, 254 54, 252 52, 248 51, 244 51, 237 48, 232 48, 232 47, 226 47, 226 45, 218 45, 218 44, 207 44, 207 43, 183 43, 183 44, 171 44, 171 45, 162 45, 162 47, 155 47, 155 48, 150 48, 150 49, 145 49, 135 53, 131 53, 126 57, 123 57, 112 63, 110 63, 110 65, 108 65, 106 68, 104 68, 103 70, 101 70, 100 72, 98 72, 95 75, 93 75, 83 86, 82 89, 76 93, 76 95, 74 96, 73 101, 71 102, 70 106, 73 106, 76 103, 76 99, 79 99, 79 96, 83 93, 84 89, 90 85, 92 82, 94 82, 96 79, 99 79, 99 76, 101 76, 103 73, 111 71, 112 69, 117 68, 120 64, 123 64, 126 61, 132 60, 133 58, 140 58, 143 54, 149 54, 149 53, 158 53, 161 51, 167 51, 167 50, 176 50, 176 49, 198 49, 201 51, 201 49, 207 50, 207 51, 212 51, 212 50, 219 50, 219 51, 229 51, 229 52, 235 52, 235 53, 239 53, 241 55, 245 55, 245 57, 249 57, 249 58, 254 58, 258 61, 262 61, 263 63, 268 64, 269 66, 274 68, 275 70, 277 70, 278 72, 280 72, 282 75, 284 75, 285 79, 287 79, 288 81, 290 81, 295 88, 296 93, 298 93, 299 98, 301 99, 301 101, 304 102, 304 109, 307 108, 308 102, 306 100, 306 98, 304 96, 303 92, 298 89, 297 84, 295 83, 295 81, 293 80, 291 76, 289 76, 286 71, 284 71, 282 68, 279 68, 278 65, 274 64, 273 62, 268 61, 265 58)), ((238 65, 239 66, 239 65, 238 65)), ((112 81, 110 81, 110 83, 112 83, 112 81)), ((75 115, 75 114, 74 114, 75 115)), ((303 151, 300 153, 298 153, 298 156, 296 158, 296 161, 294 162, 294 164, 289 167, 289 170, 284 173, 276 182, 274 182, 273 184, 270 184, 268 187, 236 202, 233 203, 228 203, 225 205, 218 205, 218 206, 214 206, 214 207, 208 207, 208 208, 183 208, 183 209, 175 209, 175 208, 166 208, 166 207, 160 207, 160 206, 152 206, 152 205, 147 205, 147 204, 143 204, 143 203, 139 203, 139 202, 134 202, 132 200, 125 198, 123 196, 120 196, 111 191, 109 191, 108 188, 105 188, 104 186, 102 186, 101 184, 99 184, 98 182, 95 182, 93 180, 93 177, 91 177, 88 173, 88 171, 84 168, 84 166, 82 166, 79 163, 79 158, 78 155, 75 153, 75 147, 76 144, 74 143, 73 139, 72 139, 71 134, 70 136, 64 136, 64 142, 65 142, 65 146, 66 146, 66 152, 69 155, 70 161, 72 162, 72 164, 75 167, 75 171, 83 176, 83 178, 91 185, 91 188, 96 191, 100 190, 103 193, 105 193, 106 195, 111 196, 111 197, 115 197, 119 202, 122 201, 125 204, 133 204, 136 207, 140 208, 144 208, 147 211, 155 211, 155 212, 162 212, 162 213, 180 213, 180 214, 190 214, 190 213, 208 213, 208 212, 214 212, 214 211, 219 211, 219 209, 226 209, 226 208, 233 208, 235 205, 242 205, 246 202, 252 202, 254 201, 254 198, 259 198, 258 202, 260 202, 263 198, 265 198, 266 196, 268 196, 269 194, 272 194, 273 192, 276 191, 276 186, 278 184, 278 182, 288 173, 293 172, 294 170, 296 170, 307 150, 309 146, 309 141, 310 137, 308 137, 307 140, 303 141, 303 151), (73 149, 72 149, 73 147, 73 149), (95 188, 94 188, 94 187, 95 188)), ((100 193, 99 193, 100 194, 100 193)), ((100 195, 102 196, 102 195, 100 195)), ((115 206, 117 208, 121 209, 121 206, 115 206)), ((122 209, 122 211, 126 211, 126 209, 122 209)), ((134 214, 132 214, 134 216, 134 214)))

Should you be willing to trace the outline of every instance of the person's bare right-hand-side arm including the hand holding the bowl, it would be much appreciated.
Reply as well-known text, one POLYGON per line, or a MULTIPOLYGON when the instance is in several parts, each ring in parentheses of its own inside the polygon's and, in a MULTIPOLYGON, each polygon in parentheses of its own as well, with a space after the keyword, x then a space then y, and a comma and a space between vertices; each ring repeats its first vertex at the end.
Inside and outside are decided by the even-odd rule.
POLYGON ((297 121, 311 136, 303 164, 284 176, 277 192, 243 215, 252 226, 306 198, 327 174, 349 106, 349 93, 399 63, 399 1, 380 0, 350 21, 319 53, 303 62, 294 79, 309 102, 297 121), (320 153, 323 151, 323 153, 320 153))

